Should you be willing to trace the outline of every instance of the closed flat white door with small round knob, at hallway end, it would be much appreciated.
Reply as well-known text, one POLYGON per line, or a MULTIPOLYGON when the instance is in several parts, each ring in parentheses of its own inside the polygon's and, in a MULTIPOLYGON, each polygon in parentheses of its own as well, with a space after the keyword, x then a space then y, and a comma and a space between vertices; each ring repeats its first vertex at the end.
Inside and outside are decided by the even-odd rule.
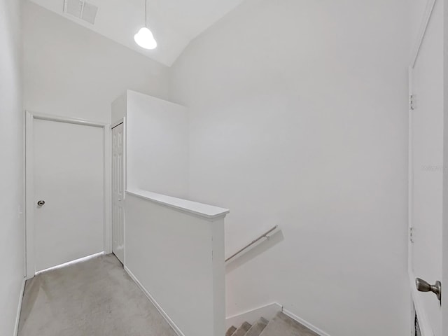
POLYGON ((104 131, 38 119, 33 128, 39 271, 104 251, 104 131))

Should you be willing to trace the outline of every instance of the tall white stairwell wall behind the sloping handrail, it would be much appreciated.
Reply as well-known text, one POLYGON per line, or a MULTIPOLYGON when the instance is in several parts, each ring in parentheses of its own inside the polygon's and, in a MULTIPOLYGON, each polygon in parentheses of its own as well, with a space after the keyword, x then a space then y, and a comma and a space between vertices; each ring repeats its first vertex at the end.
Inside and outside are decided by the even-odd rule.
POLYGON ((232 210, 228 316, 270 302, 332 336, 407 335, 405 0, 246 0, 172 69, 190 199, 232 210))

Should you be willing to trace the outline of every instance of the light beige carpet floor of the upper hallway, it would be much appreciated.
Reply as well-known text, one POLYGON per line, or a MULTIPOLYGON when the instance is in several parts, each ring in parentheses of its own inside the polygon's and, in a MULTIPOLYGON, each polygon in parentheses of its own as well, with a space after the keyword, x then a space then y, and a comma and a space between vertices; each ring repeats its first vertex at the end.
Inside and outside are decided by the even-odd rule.
POLYGON ((18 336, 176 336, 114 255, 27 281, 18 336))

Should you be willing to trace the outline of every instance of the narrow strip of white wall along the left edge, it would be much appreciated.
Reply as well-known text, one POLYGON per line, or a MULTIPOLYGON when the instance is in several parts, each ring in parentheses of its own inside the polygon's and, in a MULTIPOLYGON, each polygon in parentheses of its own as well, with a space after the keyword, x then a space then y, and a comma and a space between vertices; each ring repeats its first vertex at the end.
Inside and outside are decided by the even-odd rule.
POLYGON ((12 336, 25 275, 22 2, 0 0, 0 335, 12 336))

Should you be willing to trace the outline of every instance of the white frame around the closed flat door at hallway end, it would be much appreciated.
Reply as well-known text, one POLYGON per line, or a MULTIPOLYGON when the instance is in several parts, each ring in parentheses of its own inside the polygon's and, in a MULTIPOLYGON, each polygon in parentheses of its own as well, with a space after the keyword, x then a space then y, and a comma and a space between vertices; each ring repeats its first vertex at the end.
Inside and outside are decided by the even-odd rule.
POLYGON ((36 274, 34 250, 34 120, 99 127, 103 130, 103 248, 112 252, 111 127, 108 123, 25 111, 25 260, 26 279, 36 274))

